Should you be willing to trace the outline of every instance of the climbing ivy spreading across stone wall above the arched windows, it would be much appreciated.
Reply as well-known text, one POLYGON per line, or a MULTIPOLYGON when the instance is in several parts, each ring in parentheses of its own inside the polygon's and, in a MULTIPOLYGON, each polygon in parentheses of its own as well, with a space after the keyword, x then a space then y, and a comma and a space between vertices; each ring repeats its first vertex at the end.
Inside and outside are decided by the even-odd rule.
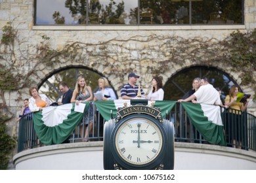
MULTIPOLYGON (((213 62, 222 62, 226 67, 229 67, 236 73, 241 73, 239 76, 242 80, 240 85, 251 86, 256 90, 256 31, 247 33, 240 33, 236 31, 230 34, 224 41, 217 41, 215 39, 203 40, 202 38, 190 38, 183 39, 182 37, 163 37, 158 35, 150 36, 133 36, 129 39, 112 39, 105 42, 98 42, 95 44, 85 42, 69 42, 63 46, 61 50, 54 50, 51 48, 51 39, 47 35, 42 35, 42 41, 35 47, 34 54, 28 54, 30 52, 29 46, 26 52, 27 56, 24 58, 16 58, 18 54, 22 54, 18 51, 14 52, 14 47, 20 48, 20 45, 14 46, 14 44, 22 44, 18 40, 18 31, 12 28, 11 22, 5 25, 2 29, 3 34, 0 43, 0 97, 3 100, 3 104, 0 105, 3 108, 8 108, 5 105, 5 99, 3 93, 6 91, 18 91, 22 88, 27 88, 28 84, 32 85, 30 76, 36 75, 39 71, 39 64, 45 65, 45 67, 53 67, 56 63, 61 63, 61 60, 74 60, 82 62, 87 58, 82 58, 85 55, 81 53, 86 52, 86 56, 96 58, 99 62, 93 61, 91 67, 97 67, 102 65, 103 67, 112 67, 115 71, 115 75, 123 78, 124 73, 133 71, 132 67, 119 67, 120 65, 129 65, 135 63, 137 66, 146 65, 148 73, 152 75, 161 75, 161 69, 157 69, 152 64, 147 63, 147 58, 158 58, 150 60, 150 62, 156 62, 158 68, 167 68, 171 65, 179 64, 184 65, 184 60, 190 60, 195 64, 211 65, 213 62), (131 48, 127 46, 128 42, 160 42, 158 45, 147 44, 148 52, 145 52, 145 48, 131 48), (125 44, 127 42, 127 44, 125 44), (2 46, 4 48, 2 48, 2 46), (218 48, 218 50, 213 49, 218 48), (162 49, 163 48, 163 49, 162 49), (115 51, 116 50, 116 51, 115 51), (124 50, 124 51, 120 51, 124 50), (127 54, 127 52, 137 52, 139 55, 137 60, 135 58, 120 58, 119 55, 127 54), (150 55, 151 54, 151 55, 150 55), (138 60, 139 59, 139 60, 138 60), (20 69, 28 63, 30 69, 27 73, 20 69), (18 83, 18 84, 17 84, 18 83)), ((132 55, 128 53, 127 55, 132 55)), ((40 78, 40 77, 39 77, 40 78)), ((255 96, 256 97, 256 96, 255 96)), ((256 98, 255 98, 256 99, 256 98)), ((12 116, 11 116, 12 118, 12 116)), ((9 119, 7 119, 9 120, 9 119)))

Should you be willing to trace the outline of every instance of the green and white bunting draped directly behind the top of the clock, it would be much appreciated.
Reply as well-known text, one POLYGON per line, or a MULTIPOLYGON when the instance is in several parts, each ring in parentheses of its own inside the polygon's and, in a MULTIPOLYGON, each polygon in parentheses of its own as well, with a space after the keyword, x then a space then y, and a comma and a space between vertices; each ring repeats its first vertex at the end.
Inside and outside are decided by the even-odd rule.
MULTIPOLYGON (((113 118, 116 117, 117 108, 124 107, 124 103, 130 106, 131 100, 96 101, 95 105, 102 117, 108 121, 111 118, 111 113, 113 118)), ((150 103, 151 102, 148 101, 148 106, 150 106, 150 103)), ((165 118, 165 115, 171 111, 175 103, 176 101, 156 101, 154 107, 160 107, 161 114, 163 118, 165 118)))

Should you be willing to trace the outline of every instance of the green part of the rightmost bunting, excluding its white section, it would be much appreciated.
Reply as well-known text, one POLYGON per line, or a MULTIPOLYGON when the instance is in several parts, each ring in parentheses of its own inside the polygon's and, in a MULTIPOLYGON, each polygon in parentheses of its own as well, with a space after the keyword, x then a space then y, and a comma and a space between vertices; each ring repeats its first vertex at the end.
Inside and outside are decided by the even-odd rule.
POLYGON ((213 124, 213 122, 209 121, 207 116, 203 114, 203 110, 200 104, 181 104, 188 113, 188 117, 192 121, 192 124, 196 127, 196 129, 198 129, 198 131, 201 133, 206 141, 210 142, 211 144, 226 146, 223 125, 213 124))

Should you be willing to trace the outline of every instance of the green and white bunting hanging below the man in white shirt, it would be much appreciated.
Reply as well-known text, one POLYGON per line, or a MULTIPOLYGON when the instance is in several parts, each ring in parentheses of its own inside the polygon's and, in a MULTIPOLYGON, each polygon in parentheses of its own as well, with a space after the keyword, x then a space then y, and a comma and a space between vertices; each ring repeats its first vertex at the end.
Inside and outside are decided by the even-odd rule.
POLYGON ((192 124, 211 144, 226 146, 221 108, 216 105, 181 103, 192 124))

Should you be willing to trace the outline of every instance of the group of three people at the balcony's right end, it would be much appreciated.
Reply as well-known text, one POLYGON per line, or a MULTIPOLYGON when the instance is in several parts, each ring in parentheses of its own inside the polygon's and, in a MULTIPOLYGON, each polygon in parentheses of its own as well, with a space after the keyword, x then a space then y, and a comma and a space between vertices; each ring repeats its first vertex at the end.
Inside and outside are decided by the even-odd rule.
POLYGON ((242 139, 246 140, 246 122, 245 118, 242 117, 242 112, 246 110, 249 103, 249 98, 246 99, 245 103, 237 101, 237 94, 239 92, 239 87, 236 85, 231 86, 229 95, 223 101, 221 100, 221 90, 219 88, 213 88, 207 78, 200 79, 200 86, 195 89, 194 84, 198 83, 199 79, 195 78, 193 80, 193 88, 191 92, 189 91, 188 97, 184 99, 179 99, 178 102, 188 102, 192 103, 203 103, 208 105, 219 105, 220 107, 228 108, 228 118, 226 118, 226 124, 224 130, 228 140, 232 139, 232 144, 234 148, 242 148, 245 144, 242 144, 242 139), (244 138, 245 137, 245 138, 244 138), (237 142, 238 141, 238 142, 237 142))

